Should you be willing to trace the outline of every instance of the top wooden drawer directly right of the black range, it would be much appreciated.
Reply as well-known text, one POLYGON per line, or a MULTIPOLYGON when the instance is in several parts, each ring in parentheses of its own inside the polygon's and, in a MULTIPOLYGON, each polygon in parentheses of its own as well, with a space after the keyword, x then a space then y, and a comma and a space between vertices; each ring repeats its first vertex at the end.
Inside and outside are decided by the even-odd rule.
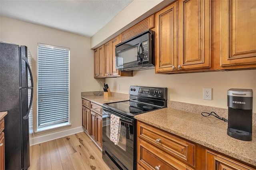
POLYGON ((195 167, 196 144, 142 122, 138 122, 137 134, 142 140, 152 143, 158 149, 170 154, 174 158, 195 167))

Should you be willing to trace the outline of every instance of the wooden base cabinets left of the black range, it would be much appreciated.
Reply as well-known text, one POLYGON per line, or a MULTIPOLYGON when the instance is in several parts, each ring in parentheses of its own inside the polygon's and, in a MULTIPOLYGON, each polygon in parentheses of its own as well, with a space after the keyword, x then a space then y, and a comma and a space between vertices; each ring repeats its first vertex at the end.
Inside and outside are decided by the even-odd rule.
POLYGON ((102 107, 83 98, 82 127, 92 141, 102 149, 102 107))

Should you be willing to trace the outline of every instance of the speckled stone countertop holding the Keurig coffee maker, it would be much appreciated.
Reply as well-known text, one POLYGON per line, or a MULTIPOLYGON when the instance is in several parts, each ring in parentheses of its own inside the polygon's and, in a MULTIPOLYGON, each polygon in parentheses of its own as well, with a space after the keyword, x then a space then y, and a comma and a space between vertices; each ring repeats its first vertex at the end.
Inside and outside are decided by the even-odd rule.
POLYGON ((228 123, 214 116, 163 108, 135 115, 135 118, 174 135, 256 166, 256 127, 252 141, 241 141, 227 135, 228 123))

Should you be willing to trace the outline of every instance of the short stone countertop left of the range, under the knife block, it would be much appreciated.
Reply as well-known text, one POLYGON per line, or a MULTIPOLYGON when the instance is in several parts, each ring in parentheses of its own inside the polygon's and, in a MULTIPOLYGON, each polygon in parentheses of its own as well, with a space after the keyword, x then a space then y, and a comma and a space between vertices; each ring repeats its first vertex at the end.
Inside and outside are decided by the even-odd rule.
POLYGON ((102 106, 102 104, 105 103, 111 103, 111 102, 120 102, 120 101, 125 101, 125 100, 129 100, 129 99, 125 99, 125 98, 118 98, 115 96, 110 96, 110 97, 104 97, 104 96, 81 96, 82 98, 89 100, 93 103, 96 103, 100 106, 102 106))

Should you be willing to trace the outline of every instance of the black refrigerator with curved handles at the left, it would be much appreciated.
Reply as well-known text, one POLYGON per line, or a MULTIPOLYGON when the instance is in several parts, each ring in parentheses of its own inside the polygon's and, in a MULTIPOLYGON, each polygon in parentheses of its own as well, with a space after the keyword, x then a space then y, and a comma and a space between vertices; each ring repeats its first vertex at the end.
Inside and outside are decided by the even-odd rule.
POLYGON ((5 169, 30 166, 29 119, 33 78, 26 46, 0 42, 0 111, 4 117, 5 169))

